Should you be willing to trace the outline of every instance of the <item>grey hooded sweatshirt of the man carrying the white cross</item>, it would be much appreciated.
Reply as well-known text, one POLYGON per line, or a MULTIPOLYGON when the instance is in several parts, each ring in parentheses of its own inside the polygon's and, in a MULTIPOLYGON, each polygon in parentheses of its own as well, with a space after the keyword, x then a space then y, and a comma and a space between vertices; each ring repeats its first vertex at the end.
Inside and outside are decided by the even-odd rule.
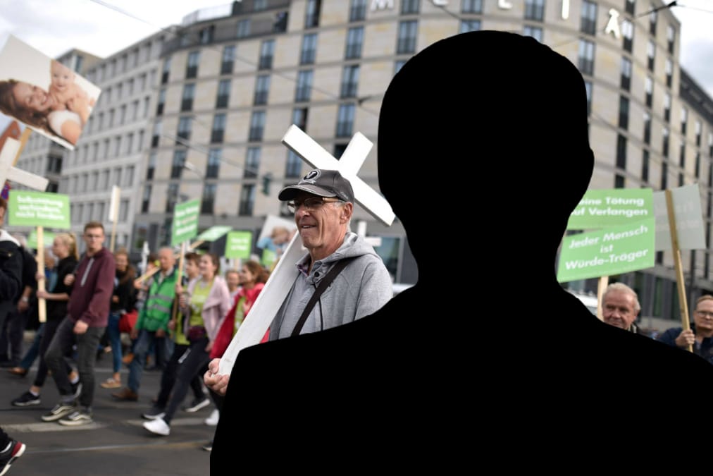
POLYGON ((270 325, 270 340, 287 338, 292 335, 299 316, 302 315, 307 301, 324 275, 329 273, 334 263, 356 256, 339 275, 334 278, 329 288, 314 304, 312 312, 300 331, 300 334, 314 333, 319 330, 351 323, 365 315, 374 313, 386 304, 394 295, 391 288, 391 276, 384 261, 364 238, 349 232, 344 243, 334 253, 309 268, 309 254, 304 255, 295 265, 299 275, 289 290, 287 298, 277 311, 270 325))

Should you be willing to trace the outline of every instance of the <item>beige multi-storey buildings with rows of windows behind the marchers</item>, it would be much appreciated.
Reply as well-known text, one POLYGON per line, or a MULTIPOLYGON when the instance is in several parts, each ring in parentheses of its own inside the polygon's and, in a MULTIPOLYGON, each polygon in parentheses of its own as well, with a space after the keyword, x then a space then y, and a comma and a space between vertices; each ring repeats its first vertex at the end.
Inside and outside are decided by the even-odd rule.
MULTIPOLYGON (((201 230, 225 224, 257 237, 268 216, 289 218, 277 192, 309 169, 281 141, 289 126, 337 158, 354 133, 364 134, 374 148, 359 176, 378 190, 379 108, 401 65, 447 36, 513 31, 563 54, 585 78, 595 152, 590 188, 699 184, 708 249, 684 253, 693 298, 713 290, 713 101, 679 66, 680 28, 660 0, 243 0, 196 11, 86 70, 103 93, 88 133, 66 154, 59 191, 72 196, 78 227, 102 216, 98 203, 106 211, 108 187, 123 186, 118 243, 134 253, 144 242, 151 249, 168 243, 175 203, 195 198, 201 230), (112 72, 115 61, 124 69, 112 72), (136 118, 136 101, 136 121, 117 126, 124 106, 136 118)), ((448 87, 448 79, 434 87, 448 87)), ((546 112, 513 111, 533 120, 546 112)), ((377 250, 394 280, 414 283, 398 218, 382 226, 356 207, 354 220, 366 223, 367 236, 381 238, 377 250)), ((447 228, 434 230, 434 252, 450 236, 447 228)), ((453 258, 457 263, 444 260, 453 258)), ((659 253, 656 263, 611 278, 640 293, 642 315, 677 319, 672 255, 659 253)), ((525 286, 527 278, 515 275, 512 284, 525 286)), ((595 290, 596 280, 566 285, 595 290)))

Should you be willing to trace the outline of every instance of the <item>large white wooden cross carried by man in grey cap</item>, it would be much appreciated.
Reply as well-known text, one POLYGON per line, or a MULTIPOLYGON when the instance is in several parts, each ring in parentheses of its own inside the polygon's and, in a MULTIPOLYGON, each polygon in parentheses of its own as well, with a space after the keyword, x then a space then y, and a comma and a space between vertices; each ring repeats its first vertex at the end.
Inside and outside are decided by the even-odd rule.
MULTIPOLYGON (((367 185, 356 173, 369 155, 374 143, 369 141, 363 134, 357 132, 352 141, 349 142, 347 150, 342 154, 342 158, 337 160, 325 151, 322 146, 310 138, 307 133, 297 126, 289 126, 287 133, 282 137, 282 143, 289 147, 305 162, 313 168, 326 170, 337 170, 352 184, 354 200, 359 203, 371 216, 391 226, 394 222, 394 211, 391 210, 389 202, 373 188, 367 185)), ((292 283, 297 278, 297 268, 294 263, 302 257, 302 240, 299 233, 295 233, 290 240, 287 249, 282 253, 282 257, 277 261, 277 266, 272 270, 270 279, 265 283, 260 295, 257 296, 255 304, 250 310, 250 318, 246 319, 237 333, 232 338, 230 345, 220 359, 220 375, 230 375, 235 358, 240 350, 260 343, 260 340, 270 327, 272 319, 292 288, 292 283)))

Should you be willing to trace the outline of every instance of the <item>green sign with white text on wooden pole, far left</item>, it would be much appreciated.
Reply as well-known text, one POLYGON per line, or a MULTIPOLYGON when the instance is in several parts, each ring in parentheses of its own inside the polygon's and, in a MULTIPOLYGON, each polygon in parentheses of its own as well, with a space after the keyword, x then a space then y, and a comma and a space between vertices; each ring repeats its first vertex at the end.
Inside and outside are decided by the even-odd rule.
POLYGON ((69 229, 69 196, 60 193, 12 190, 7 201, 12 226, 69 229))

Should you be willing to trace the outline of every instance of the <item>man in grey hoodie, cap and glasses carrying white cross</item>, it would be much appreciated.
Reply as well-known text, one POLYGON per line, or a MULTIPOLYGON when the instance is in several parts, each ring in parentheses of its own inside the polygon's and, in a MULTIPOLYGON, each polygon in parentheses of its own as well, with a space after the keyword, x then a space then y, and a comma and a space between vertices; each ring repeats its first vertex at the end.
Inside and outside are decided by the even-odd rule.
POLYGON ((296 264, 299 275, 270 325, 270 340, 351 323, 391 299, 391 276, 384 261, 364 238, 349 231, 354 191, 346 178, 338 171, 314 169, 296 185, 283 188, 278 198, 288 201, 307 254, 296 264), (319 282, 341 260, 349 263, 298 327, 319 282))

